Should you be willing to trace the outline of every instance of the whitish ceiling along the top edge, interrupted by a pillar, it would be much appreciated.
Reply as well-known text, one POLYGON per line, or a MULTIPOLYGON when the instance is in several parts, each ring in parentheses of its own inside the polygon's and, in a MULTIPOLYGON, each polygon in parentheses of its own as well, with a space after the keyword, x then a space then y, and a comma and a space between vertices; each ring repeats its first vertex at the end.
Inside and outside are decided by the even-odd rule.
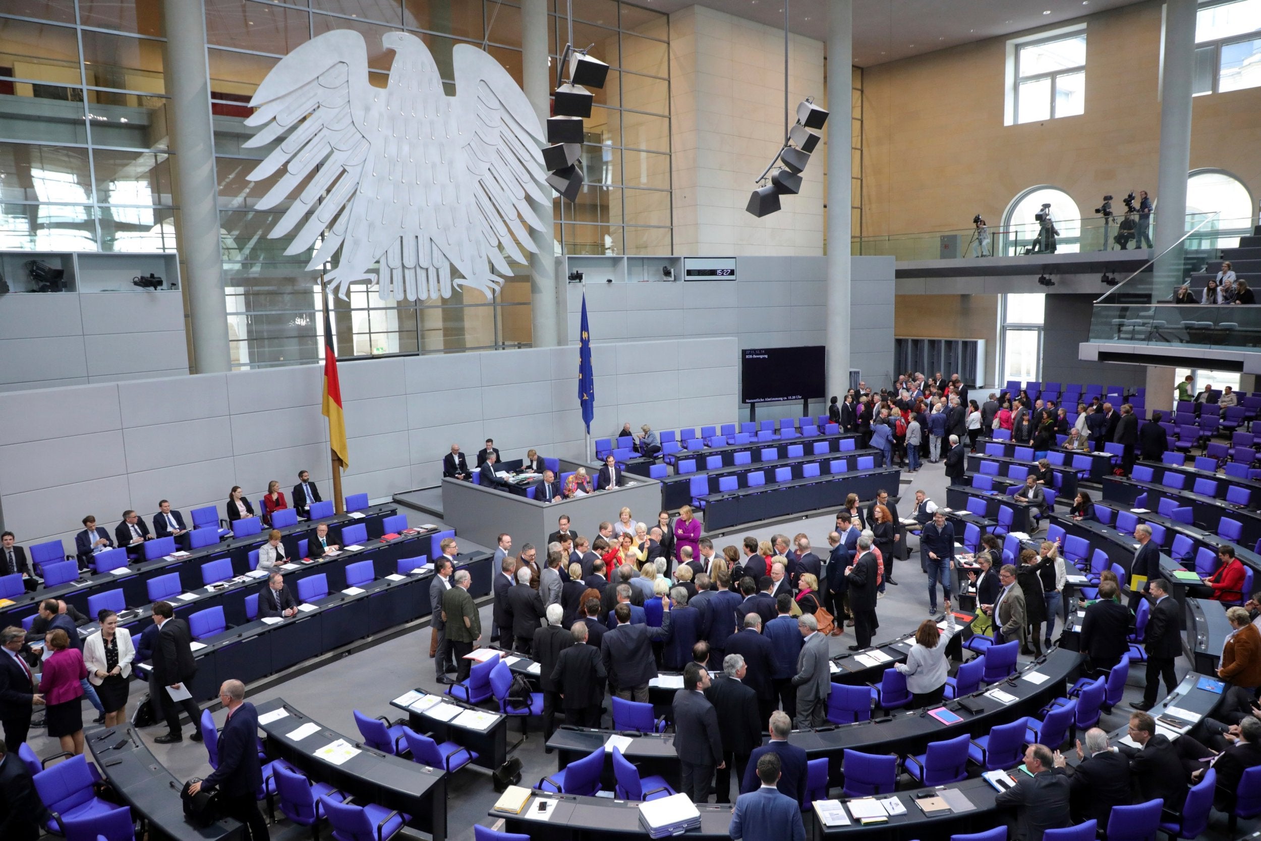
MULTIPOLYGON (((826 40, 828 0, 787 0, 788 28, 826 40)), ((854 63, 871 67, 956 44, 1049 26, 1142 0, 854 0, 854 63), (1050 13, 1050 14, 1045 14, 1050 13)), ((657 11, 692 5, 783 28, 783 0, 632 0, 657 11)))

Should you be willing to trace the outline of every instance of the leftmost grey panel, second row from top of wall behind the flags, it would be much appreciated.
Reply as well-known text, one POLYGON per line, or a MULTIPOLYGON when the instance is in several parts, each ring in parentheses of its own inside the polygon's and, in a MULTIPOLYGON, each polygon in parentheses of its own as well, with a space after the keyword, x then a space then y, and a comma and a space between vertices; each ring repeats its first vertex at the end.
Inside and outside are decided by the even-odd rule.
POLYGON ((76 479, 124 475, 122 432, 92 432, 71 438, 0 446, 0 494, 55 488, 76 479))

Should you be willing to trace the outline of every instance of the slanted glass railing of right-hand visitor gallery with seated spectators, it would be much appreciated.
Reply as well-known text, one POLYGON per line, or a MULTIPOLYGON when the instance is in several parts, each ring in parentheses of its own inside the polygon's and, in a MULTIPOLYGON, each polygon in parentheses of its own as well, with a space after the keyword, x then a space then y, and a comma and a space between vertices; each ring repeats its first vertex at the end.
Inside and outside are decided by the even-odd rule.
MULTIPOLYGON (((1198 222, 1178 242, 1095 301, 1092 342, 1173 344, 1188 352, 1261 348, 1261 306, 1206 303, 1204 295, 1208 280, 1218 272, 1219 252, 1237 248, 1240 237, 1252 233, 1242 227, 1251 226, 1251 219, 1241 224, 1238 219, 1223 222, 1216 213, 1195 216, 1198 222)), ((1241 280, 1257 285, 1245 271, 1252 262, 1246 256, 1233 262, 1241 280)))

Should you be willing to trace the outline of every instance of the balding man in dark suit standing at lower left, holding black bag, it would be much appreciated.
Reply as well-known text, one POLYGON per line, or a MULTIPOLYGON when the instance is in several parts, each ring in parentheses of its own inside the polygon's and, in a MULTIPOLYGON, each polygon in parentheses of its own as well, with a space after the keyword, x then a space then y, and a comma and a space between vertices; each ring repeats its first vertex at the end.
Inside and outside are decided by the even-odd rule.
POLYGON ((262 764, 259 759, 259 712, 245 700, 245 683, 223 681, 219 701, 228 710, 228 720, 219 733, 219 764, 203 780, 189 786, 190 794, 203 788, 219 789, 219 808, 227 817, 246 827, 246 841, 265 841, 267 822, 259 811, 259 789, 262 788, 262 764))

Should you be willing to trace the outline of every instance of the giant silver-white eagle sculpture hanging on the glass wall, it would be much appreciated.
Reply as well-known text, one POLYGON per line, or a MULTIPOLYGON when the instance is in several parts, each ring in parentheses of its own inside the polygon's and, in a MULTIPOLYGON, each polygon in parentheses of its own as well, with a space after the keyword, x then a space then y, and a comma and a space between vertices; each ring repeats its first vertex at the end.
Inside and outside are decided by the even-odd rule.
POLYGON ((521 246, 537 251, 526 226, 543 224, 530 199, 551 202, 538 117, 484 50, 451 50, 451 97, 424 42, 395 32, 381 43, 395 53, 385 90, 368 83, 367 45, 349 29, 306 42, 259 86, 246 125, 265 127, 246 146, 282 140, 247 178, 284 173, 260 209, 291 198, 267 236, 301 223, 285 253, 314 247, 308 270, 337 255, 325 280, 342 298, 362 280, 382 299, 462 286, 491 296, 503 282, 496 271, 512 271, 504 255, 525 264, 521 246))

